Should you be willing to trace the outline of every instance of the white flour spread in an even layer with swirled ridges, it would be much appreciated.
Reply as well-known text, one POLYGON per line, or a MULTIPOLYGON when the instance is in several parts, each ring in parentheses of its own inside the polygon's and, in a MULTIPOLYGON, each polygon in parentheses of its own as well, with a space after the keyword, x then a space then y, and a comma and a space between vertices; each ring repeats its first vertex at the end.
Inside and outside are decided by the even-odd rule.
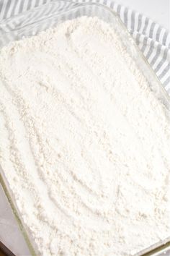
POLYGON ((0 163, 40 255, 131 255, 170 236, 170 124, 109 25, 0 54, 0 163))

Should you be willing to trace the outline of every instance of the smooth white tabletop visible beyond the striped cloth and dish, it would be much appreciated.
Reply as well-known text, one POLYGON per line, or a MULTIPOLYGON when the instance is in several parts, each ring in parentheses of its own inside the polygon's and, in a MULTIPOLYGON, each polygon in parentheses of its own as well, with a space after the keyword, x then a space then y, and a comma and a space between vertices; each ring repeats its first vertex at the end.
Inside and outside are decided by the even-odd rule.
MULTIPOLYGON (((145 14, 170 31, 170 0, 117 0, 135 11, 145 14)), ((12 216, 9 203, 6 201, 0 185, 0 241, 4 242, 17 256, 29 255, 27 245, 22 238, 17 223, 12 216)), ((170 255, 170 252, 169 254, 170 255)))

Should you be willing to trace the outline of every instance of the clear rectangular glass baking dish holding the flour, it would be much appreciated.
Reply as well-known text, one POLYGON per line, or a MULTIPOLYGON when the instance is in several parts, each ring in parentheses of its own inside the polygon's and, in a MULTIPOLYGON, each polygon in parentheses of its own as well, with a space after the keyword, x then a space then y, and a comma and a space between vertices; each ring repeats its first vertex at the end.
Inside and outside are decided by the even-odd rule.
MULTIPOLYGON (((122 24, 120 18, 117 17, 115 12, 102 4, 91 2, 73 3, 71 1, 51 1, 48 4, 43 4, 40 7, 35 7, 30 11, 4 20, 0 23, 0 48, 6 46, 10 41, 36 35, 40 31, 48 29, 48 27, 54 27, 58 22, 71 20, 84 15, 88 17, 99 17, 99 19, 108 22, 114 27, 120 35, 122 43, 126 46, 130 56, 133 56, 136 65, 148 80, 151 90, 155 93, 158 100, 164 104, 167 115, 169 116, 169 95, 158 81, 156 74, 151 69, 143 54, 141 54, 138 46, 128 33, 126 27, 122 24)), ((14 216, 17 218, 17 222, 19 223, 19 227, 24 235, 24 239, 27 242, 31 255, 39 255, 35 242, 32 239, 32 235, 26 223, 22 221, 22 216, 19 214, 14 195, 6 180, 5 170, 2 170, 1 166, 0 182, 12 207, 14 216)), ((170 237, 157 244, 148 244, 148 248, 143 248, 140 252, 134 252, 134 255, 163 255, 167 249, 170 249, 170 237)))

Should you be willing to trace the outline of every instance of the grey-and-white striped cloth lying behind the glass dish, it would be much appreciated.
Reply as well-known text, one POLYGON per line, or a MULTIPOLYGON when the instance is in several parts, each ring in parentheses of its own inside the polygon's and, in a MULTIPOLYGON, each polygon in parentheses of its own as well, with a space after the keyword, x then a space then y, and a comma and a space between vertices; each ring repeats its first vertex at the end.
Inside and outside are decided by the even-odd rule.
MULTIPOLYGON (((144 15, 134 12, 120 4, 116 4, 111 0, 73 0, 58 1, 58 0, 0 0, 0 31, 1 26, 17 14, 26 12, 44 5, 42 12, 32 12, 27 19, 36 20, 38 17, 49 15, 50 13, 60 12, 61 9, 69 8, 69 5, 76 2, 99 2, 113 9, 120 16, 122 22, 128 28, 129 32, 135 38, 140 50, 143 52, 148 62, 151 64, 154 72, 166 90, 170 94, 170 33, 160 27, 156 22, 148 19, 144 15), (47 8, 49 2, 58 2, 57 9, 53 6, 47 8)), ((26 21, 25 21, 26 22, 26 21)))

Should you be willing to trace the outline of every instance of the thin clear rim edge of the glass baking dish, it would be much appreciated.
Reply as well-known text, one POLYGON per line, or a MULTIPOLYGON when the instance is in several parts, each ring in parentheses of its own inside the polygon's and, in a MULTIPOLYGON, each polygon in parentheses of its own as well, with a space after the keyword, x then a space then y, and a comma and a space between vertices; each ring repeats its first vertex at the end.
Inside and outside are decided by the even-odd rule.
MULTIPOLYGON (((59 1, 63 1, 63 0, 58 0, 59 1)), ((135 42, 134 38, 132 37, 132 35, 130 35, 127 27, 125 27, 125 24, 122 22, 122 20, 120 19, 120 17, 118 16, 118 14, 111 8, 107 7, 107 5, 104 5, 104 4, 101 4, 99 2, 84 2, 84 1, 70 1, 70 0, 64 0, 66 3, 69 3, 69 4, 73 4, 72 7, 70 7, 69 9, 66 9, 66 10, 61 10, 60 13, 58 14, 51 14, 50 16, 48 17, 45 17, 45 18, 42 18, 41 20, 37 20, 37 22, 42 22, 43 20, 48 20, 48 18, 50 17, 60 17, 64 14, 67 14, 69 12, 75 12, 76 9, 79 9, 81 7, 91 7, 91 6, 97 6, 101 9, 105 9, 107 12, 111 13, 112 16, 114 16, 118 22, 120 23, 121 27, 122 27, 122 30, 124 30, 124 32, 126 33, 126 36, 128 36, 128 38, 130 38, 130 40, 133 40, 133 43, 134 43, 134 46, 136 48, 136 50, 138 51, 138 54, 140 54, 140 58, 143 59, 143 61, 146 62, 146 65, 148 67, 148 69, 150 69, 150 72, 153 74, 153 77, 154 77, 154 80, 156 81, 156 83, 158 84, 159 88, 161 89, 161 93, 164 94, 164 97, 167 99, 167 101, 170 103, 170 95, 166 92, 164 86, 161 84, 160 80, 158 80, 158 77, 156 76, 156 73, 153 71, 153 69, 151 68, 150 64, 148 63, 148 60, 146 59, 146 57, 143 55, 143 53, 140 51, 140 48, 138 47, 137 43, 135 42)), ((49 4, 55 4, 55 1, 50 1, 48 3, 45 3, 43 4, 43 6, 45 5, 49 5, 49 4)), ((35 7, 34 9, 30 9, 28 11, 25 11, 23 12, 22 14, 18 14, 14 17, 9 17, 5 20, 2 20, 0 22, 0 25, 5 23, 5 22, 11 22, 12 20, 14 20, 16 17, 20 17, 20 16, 24 16, 24 14, 29 14, 32 12, 32 10, 35 10, 35 9, 39 9, 41 8, 41 6, 39 7, 35 7)), ((83 16, 83 15, 82 15, 83 16)), ((86 16, 86 15, 85 15, 86 16)), ((22 29, 23 27, 29 27, 30 25, 33 25, 33 24, 36 24, 37 22, 30 22, 29 24, 27 25, 24 25, 24 26, 21 26, 21 27, 18 27, 14 30, 10 30, 9 32, 4 32, 4 34, 6 33, 11 33, 12 31, 19 31, 20 29, 22 29)), ((47 30, 47 29, 45 29, 47 30)), ((40 33, 40 32, 38 32, 40 33)), ((38 34, 37 33, 37 34, 38 34)), ((30 36, 27 36, 28 38, 30 36)), ((19 39, 20 40, 20 39, 19 39)), ((8 43, 7 43, 8 44, 8 43)), ((6 44, 6 45, 7 45, 6 44)), ((4 47, 4 46, 3 46, 4 47)), ((0 48, 0 51, 1 51, 1 48, 0 48)), ((3 168, 1 168, 1 165, 0 165, 0 183, 1 183, 1 186, 2 188, 4 189, 4 193, 6 195, 6 198, 7 200, 9 201, 9 204, 12 208, 12 212, 17 220, 17 223, 18 223, 18 226, 19 226, 19 229, 20 231, 22 232, 23 236, 24 236, 24 240, 25 242, 27 243, 27 246, 28 246, 28 249, 30 250, 30 253, 32 256, 37 256, 37 253, 35 252, 35 247, 32 246, 32 242, 31 242, 31 239, 30 239, 30 236, 29 236, 29 232, 27 231, 26 229, 26 226, 24 225, 23 221, 22 221, 22 218, 19 217, 19 210, 17 208, 17 205, 15 205, 15 203, 13 202, 13 192, 12 190, 9 188, 9 184, 8 184, 8 181, 6 179, 6 176, 5 176, 5 172, 3 170, 3 168), (4 176, 4 177, 3 177, 4 176), (7 183, 7 186, 6 186, 6 183, 7 183)), ((150 247, 146 248, 146 249, 143 249, 141 250, 140 252, 136 253, 135 255, 137 256, 149 256, 149 255, 154 255, 155 253, 157 254, 158 252, 162 252, 163 249, 169 249, 170 248, 170 236, 168 238, 166 238, 164 241, 162 242, 158 242, 156 244, 153 244, 151 245, 150 247)), ((134 255, 134 256, 135 256, 134 255)))

